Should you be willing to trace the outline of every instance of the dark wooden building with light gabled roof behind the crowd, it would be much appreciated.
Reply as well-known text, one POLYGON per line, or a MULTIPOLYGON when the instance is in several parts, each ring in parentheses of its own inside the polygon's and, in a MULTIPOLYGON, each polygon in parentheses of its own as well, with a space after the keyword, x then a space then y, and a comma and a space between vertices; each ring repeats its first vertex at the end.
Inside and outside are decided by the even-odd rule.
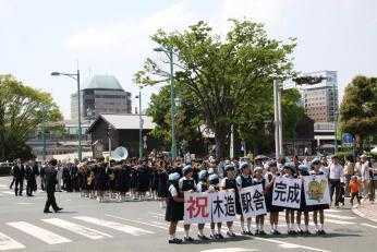
MULTIPOLYGON (((151 117, 143 119, 143 148, 153 149, 156 143, 148 133, 155 128, 151 117)), ((105 152, 119 146, 127 148, 131 157, 138 155, 139 145, 139 116, 138 115, 99 115, 90 124, 87 134, 90 135, 92 146, 99 145, 105 152), (109 144, 109 140, 110 144, 109 144)), ((95 151, 94 151, 95 152, 95 151)))

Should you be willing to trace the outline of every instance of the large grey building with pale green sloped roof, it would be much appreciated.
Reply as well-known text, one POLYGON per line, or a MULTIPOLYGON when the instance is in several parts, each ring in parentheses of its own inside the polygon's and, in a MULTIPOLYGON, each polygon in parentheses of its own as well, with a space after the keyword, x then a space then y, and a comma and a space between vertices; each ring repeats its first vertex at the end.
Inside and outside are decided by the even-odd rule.
MULTIPOLYGON (((83 119, 93 120, 101 113, 126 115, 132 111, 131 93, 125 92, 112 75, 95 75, 81 95, 83 119)), ((71 118, 77 120, 77 93, 71 95, 71 118)))

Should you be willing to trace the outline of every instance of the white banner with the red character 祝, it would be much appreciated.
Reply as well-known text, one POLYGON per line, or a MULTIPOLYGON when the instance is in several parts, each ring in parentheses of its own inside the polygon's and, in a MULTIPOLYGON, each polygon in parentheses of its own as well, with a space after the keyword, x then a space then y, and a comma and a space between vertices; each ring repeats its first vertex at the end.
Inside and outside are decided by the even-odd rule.
POLYGON ((208 193, 184 192, 184 217, 185 224, 210 223, 210 197, 208 193))

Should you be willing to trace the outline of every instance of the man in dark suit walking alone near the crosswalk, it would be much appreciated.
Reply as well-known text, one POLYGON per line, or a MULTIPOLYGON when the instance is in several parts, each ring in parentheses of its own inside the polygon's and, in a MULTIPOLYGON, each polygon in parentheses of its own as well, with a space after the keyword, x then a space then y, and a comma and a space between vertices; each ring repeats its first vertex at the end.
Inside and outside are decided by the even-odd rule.
POLYGON ((50 211, 50 206, 52 206, 52 208, 56 213, 63 209, 57 205, 57 201, 54 199, 54 188, 58 183, 57 170, 56 170, 57 164, 58 164, 57 159, 51 159, 49 161, 49 166, 45 170, 45 172, 46 172, 46 192, 47 192, 47 201, 46 201, 46 205, 45 205, 45 209, 44 209, 45 214, 52 213, 50 211))

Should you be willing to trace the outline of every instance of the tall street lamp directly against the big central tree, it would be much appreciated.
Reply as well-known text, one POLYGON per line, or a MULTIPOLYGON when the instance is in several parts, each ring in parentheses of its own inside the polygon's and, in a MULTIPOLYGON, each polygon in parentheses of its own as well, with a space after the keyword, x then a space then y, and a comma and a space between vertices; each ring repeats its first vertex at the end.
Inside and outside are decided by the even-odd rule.
POLYGON ((155 48, 154 51, 165 52, 170 61, 170 107, 171 107, 171 157, 174 159, 177 157, 177 142, 175 142, 175 125, 174 125, 174 115, 175 115, 175 103, 174 103, 174 75, 173 75, 173 49, 172 48, 155 48))

